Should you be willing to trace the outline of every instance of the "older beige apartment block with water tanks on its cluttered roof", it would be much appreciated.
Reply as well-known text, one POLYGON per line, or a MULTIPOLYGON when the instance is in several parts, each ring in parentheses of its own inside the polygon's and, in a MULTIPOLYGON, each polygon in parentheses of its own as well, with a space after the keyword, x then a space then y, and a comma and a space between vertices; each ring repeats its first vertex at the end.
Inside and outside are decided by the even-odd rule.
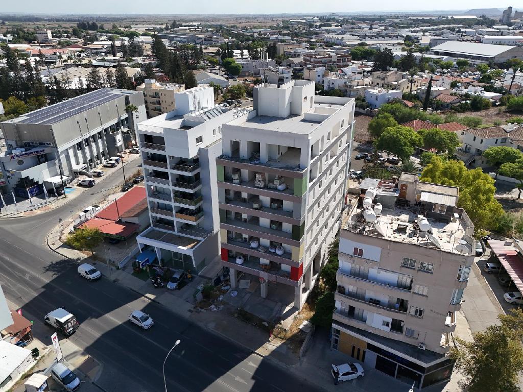
POLYGON ((459 189, 402 173, 365 179, 342 223, 332 343, 372 368, 424 388, 450 378, 474 262, 474 225, 459 189))

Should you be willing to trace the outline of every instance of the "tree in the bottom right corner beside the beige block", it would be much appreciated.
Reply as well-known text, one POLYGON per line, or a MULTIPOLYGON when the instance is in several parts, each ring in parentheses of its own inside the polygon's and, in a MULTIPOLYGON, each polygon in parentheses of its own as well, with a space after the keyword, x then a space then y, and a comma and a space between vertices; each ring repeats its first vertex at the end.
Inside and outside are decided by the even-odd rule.
POLYGON ((456 347, 450 349, 450 358, 456 361, 454 367, 463 375, 468 392, 520 391, 523 312, 515 309, 498 319, 499 325, 475 333, 471 342, 454 337, 456 347))

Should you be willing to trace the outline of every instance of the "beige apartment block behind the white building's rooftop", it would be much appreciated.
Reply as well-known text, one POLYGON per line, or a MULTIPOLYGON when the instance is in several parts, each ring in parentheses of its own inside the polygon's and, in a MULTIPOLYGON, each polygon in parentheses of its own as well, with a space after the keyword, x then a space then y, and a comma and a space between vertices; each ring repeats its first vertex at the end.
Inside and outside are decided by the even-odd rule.
POLYGON ((156 117, 176 109, 174 95, 185 90, 183 84, 160 83, 155 79, 145 79, 144 83, 137 86, 137 91, 142 91, 145 101, 147 117, 156 117))

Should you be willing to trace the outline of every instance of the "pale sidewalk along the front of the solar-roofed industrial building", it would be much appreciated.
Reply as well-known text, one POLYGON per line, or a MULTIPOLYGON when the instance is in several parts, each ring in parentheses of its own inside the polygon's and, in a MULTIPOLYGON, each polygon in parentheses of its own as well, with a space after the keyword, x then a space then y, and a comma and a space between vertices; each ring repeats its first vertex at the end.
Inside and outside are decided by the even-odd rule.
MULTIPOLYGON (((139 158, 139 154, 123 154, 124 159, 124 167, 129 165, 130 163, 133 163, 135 159, 139 158)), ((121 168, 121 165, 109 168, 104 167, 103 170, 105 171, 105 175, 103 177, 96 177, 95 180, 103 181, 107 178, 107 176, 111 175, 113 172, 119 170, 121 168)), ((126 173, 127 176, 130 176, 131 173, 126 173)), ((73 182, 77 183, 78 178, 74 180, 73 182)), ((78 187, 73 185, 72 183, 70 185, 67 185, 66 197, 59 196, 59 197, 49 197, 47 200, 44 198, 43 194, 38 195, 38 197, 31 198, 32 204, 28 199, 17 201, 17 205, 15 204, 9 204, 0 209, 0 218, 20 218, 25 216, 34 216, 37 214, 41 214, 43 212, 47 212, 50 210, 53 210, 57 207, 60 207, 64 205, 65 203, 71 201, 71 199, 75 199, 78 197, 78 195, 81 195, 83 192, 89 190, 90 188, 85 187, 78 187)))

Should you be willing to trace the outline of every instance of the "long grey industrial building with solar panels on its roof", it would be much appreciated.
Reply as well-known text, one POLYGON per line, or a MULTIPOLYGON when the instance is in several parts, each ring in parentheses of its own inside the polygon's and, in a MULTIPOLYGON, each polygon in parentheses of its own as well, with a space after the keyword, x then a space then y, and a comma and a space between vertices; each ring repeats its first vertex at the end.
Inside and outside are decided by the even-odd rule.
POLYGON ((145 119, 140 91, 101 88, 2 122, 0 187, 22 198, 51 190, 131 147, 145 119))

